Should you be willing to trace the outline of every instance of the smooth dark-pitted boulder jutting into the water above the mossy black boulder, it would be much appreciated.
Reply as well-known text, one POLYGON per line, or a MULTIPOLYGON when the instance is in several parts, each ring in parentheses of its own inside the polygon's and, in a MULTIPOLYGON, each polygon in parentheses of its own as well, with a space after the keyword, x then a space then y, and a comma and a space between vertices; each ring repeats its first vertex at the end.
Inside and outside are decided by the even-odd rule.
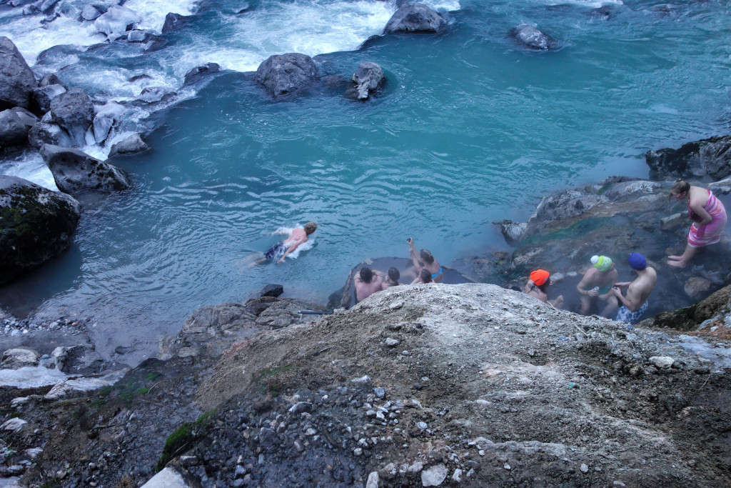
POLYGON ((41 156, 53 173, 56 186, 64 193, 116 192, 129 187, 124 171, 78 149, 46 144, 41 148, 41 156))

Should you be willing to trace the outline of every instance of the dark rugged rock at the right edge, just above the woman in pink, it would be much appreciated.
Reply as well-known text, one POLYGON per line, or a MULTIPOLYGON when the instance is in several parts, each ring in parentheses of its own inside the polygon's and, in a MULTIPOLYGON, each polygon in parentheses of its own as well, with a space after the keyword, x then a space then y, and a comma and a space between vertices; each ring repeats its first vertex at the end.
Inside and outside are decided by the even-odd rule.
POLYGON ((731 175, 731 135, 697 140, 680 149, 648 151, 645 161, 651 179, 723 179, 731 175))

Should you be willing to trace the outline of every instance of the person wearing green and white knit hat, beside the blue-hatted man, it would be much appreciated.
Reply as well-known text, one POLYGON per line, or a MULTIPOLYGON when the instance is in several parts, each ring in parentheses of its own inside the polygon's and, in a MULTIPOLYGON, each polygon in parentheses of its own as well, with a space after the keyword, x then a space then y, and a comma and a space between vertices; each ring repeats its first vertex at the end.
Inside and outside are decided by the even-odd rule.
POLYGON ((607 256, 592 256, 591 268, 586 271, 576 290, 581 300, 581 315, 588 314, 595 303, 600 308, 599 315, 614 318, 619 303, 612 293, 612 285, 617 281, 618 272, 611 258, 607 256), (603 302, 599 304, 599 301, 603 302))

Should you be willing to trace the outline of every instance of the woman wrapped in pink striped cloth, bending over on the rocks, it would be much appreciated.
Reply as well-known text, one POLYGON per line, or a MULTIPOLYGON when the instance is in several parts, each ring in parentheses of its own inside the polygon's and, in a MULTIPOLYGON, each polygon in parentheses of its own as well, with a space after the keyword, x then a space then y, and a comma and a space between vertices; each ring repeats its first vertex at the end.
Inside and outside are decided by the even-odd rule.
POLYGON ((667 264, 670 266, 684 268, 699 247, 716 244, 721 239, 726 225, 726 209, 710 189, 692 187, 681 179, 675 181, 670 188, 670 197, 688 200, 688 217, 693 221, 683 255, 667 257, 667 264))

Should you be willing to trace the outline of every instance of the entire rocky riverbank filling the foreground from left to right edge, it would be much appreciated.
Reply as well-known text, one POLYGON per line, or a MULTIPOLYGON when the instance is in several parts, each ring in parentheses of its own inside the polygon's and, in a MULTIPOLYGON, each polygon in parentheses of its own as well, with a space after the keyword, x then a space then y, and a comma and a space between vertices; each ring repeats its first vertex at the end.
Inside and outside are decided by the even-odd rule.
MULTIPOLYGON (((728 323, 724 290, 703 309, 728 323)), ((391 288, 307 323, 300 307, 200 309, 170 359, 94 394, 2 388, 3 473, 69 487, 139 486, 162 468, 178 484, 149 486, 727 483, 731 383, 678 331, 494 285, 391 288)))

